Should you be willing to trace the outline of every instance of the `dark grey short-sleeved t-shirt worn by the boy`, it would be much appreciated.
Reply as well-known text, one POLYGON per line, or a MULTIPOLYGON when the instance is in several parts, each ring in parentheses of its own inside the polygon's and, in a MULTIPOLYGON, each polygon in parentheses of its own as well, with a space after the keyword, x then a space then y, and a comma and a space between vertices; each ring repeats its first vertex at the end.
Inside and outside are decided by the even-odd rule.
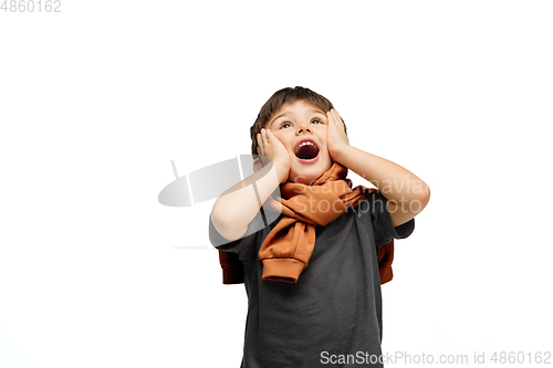
MULTIPOLYGON (((260 212, 250 228, 263 228, 262 221, 260 212)), ((296 283, 261 277, 259 249, 276 223, 228 243, 210 220, 212 244, 238 253, 244 266, 248 317, 241 367, 382 367, 369 364, 382 354, 376 246, 409 236, 415 220, 394 228, 386 198, 372 191, 336 220, 315 227, 313 255, 296 283)))

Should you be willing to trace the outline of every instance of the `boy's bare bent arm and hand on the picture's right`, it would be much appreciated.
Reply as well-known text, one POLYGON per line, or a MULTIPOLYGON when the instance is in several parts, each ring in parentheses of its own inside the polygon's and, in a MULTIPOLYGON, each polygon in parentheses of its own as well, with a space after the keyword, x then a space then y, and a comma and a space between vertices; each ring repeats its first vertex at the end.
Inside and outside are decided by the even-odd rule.
POLYGON ((331 157, 378 188, 388 200, 388 211, 395 227, 422 211, 430 200, 430 188, 422 180, 395 162, 349 146, 338 113, 332 109, 327 117, 331 157))

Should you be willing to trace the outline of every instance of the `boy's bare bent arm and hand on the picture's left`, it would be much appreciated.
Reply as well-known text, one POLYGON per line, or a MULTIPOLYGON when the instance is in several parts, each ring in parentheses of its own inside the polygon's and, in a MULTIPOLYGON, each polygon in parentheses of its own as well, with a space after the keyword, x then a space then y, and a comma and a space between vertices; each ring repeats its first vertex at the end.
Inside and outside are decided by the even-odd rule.
POLYGON ((255 159, 255 172, 225 191, 211 210, 213 227, 230 241, 240 239, 246 233, 261 204, 281 182, 286 181, 290 172, 290 156, 271 130, 262 129, 261 134, 258 134, 258 145, 261 150, 259 154, 271 158, 272 165, 261 167, 261 161, 255 159))

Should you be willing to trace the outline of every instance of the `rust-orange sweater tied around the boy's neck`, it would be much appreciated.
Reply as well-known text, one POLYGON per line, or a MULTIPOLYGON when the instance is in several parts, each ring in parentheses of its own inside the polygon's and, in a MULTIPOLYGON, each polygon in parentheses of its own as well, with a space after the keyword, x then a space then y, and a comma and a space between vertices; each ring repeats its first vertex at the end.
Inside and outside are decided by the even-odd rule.
MULTIPOLYGON (((283 217, 261 244, 259 259, 263 263, 263 280, 295 283, 307 266, 315 245, 315 225, 325 225, 355 207, 373 189, 351 188, 345 179, 347 169, 335 162, 312 186, 285 182, 281 198, 265 202, 283 217)), ((378 251, 380 284, 393 278, 394 240, 378 251)), ((238 254, 219 251, 223 284, 243 283, 243 266, 238 254)))

